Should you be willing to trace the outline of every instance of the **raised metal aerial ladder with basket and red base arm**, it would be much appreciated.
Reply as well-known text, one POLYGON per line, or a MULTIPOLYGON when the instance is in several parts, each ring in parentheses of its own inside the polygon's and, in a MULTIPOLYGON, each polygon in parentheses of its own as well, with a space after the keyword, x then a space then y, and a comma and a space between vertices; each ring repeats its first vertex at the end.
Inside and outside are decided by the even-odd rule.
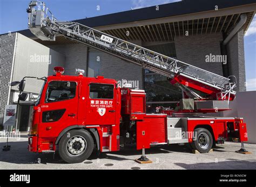
MULTIPOLYGON (((215 102, 219 111, 228 109, 228 102, 235 97, 236 81, 231 82, 231 77, 226 78, 191 66, 73 21, 57 21, 44 2, 31 1, 27 12, 29 29, 41 40, 55 41, 56 35, 63 35, 80 44, 117 56, 166 76, 170 83, 185 93, 185 98, 192 98, 197 102, 215 102), (195 90, 203 92, 206 96, 200 96, 195 90)), ((214 109, 213 104, 211 108, 214 109)))

